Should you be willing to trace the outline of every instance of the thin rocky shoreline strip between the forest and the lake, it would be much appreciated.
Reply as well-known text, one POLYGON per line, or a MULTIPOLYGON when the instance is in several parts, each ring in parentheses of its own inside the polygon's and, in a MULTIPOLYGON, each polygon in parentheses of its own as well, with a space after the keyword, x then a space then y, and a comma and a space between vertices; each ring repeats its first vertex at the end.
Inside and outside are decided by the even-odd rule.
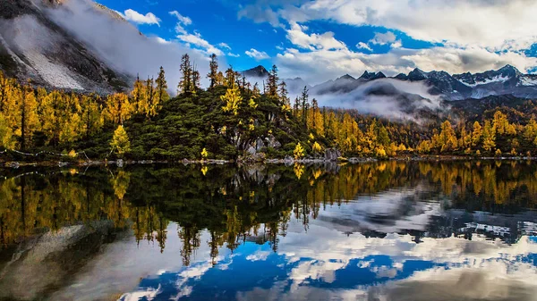
POLYGON ((79 161, 79 162, 69 162, 69 161, 40 161, 40 162, 16 162, 16 161, 6 161, 1 162, 1 166, 4 168, 13 168, 17 169, 19 167, 26 166, 36 166, 36 167, 84 167, 84 166, 116 166, 124 167, 125 165, 152 165, 152 164, 200 164, 200 165, 224 165, 224 164, 286 164, 292 165, 294 163, 301 164, 326 164, 326 163, 375 163, 383 161, 402 161, 402 162, 411 162, 411 161, 422 161, 422 162, 440 162, 440 161, 537 161, 535 156, 514 156, 514 157, 493 157, 493 156, 460 156, 460 155, 420 155, 420 156, 396 156, 391 158, 373 158, 373 157, 350 157, 350 158, 338 158, 337 160, 327 160, 323 158, 307 158, 307 159, 294 159, 294 158, 285 158, 285 159, 265 159, 262 161, 251 161, 251 160, 217 160, 217 159, 208 159, 208 160, 188 160, 183 159, 179 161, 168 161, 168 160, 96 160, 96 161, 79 161))

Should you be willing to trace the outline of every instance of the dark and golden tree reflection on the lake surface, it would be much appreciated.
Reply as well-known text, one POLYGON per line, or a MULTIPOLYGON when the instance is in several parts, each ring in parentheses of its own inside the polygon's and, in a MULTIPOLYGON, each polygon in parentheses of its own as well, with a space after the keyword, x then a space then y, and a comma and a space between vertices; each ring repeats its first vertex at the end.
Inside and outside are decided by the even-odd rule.
MULTIPOLYGON (((10 246, 43 230, 83 222, 112 221, 132 229, 136 241, 165 251, 169 222, 179 225, 180 250, 188 265, 208 230, 212 263, 218 249, 232 252, 246 241, 268 243, 277 251, 289 222, 308 230, 328 205, 342 205, 361 196, 422 188, 397 210, 405 215, 418 201, 440 202, 466 212, 517 213, 535 208, 537 169, 526 162, 379 162, 358 165, 291 167, 268 165, 231 168, 213 166, 126 168, 107 171, 8 175, 0 182, 0 243, 10 246)), ((472 238, 432 221, 427 235, 472 238)), ((409 231, 416 242, 424 232, 409 231)), ((382 233, 363 230, 366 236, 382 233)), ((384 234, 385 235, 385 234, 384 234)))

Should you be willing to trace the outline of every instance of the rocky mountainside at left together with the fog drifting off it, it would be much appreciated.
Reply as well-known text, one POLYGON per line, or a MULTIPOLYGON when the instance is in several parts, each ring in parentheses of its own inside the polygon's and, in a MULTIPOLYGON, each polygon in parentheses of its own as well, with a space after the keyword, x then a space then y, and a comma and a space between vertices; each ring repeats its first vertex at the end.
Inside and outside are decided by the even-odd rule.
POLYGON ((175 92, 181 55, 190 54, 201 74, 209 70, 207 54, 143 36, 90 0, 3 1, 0 17, 0 69, 39 85, 107 92, 128 88, 137 74, 156 76, 163 66, 175 92))

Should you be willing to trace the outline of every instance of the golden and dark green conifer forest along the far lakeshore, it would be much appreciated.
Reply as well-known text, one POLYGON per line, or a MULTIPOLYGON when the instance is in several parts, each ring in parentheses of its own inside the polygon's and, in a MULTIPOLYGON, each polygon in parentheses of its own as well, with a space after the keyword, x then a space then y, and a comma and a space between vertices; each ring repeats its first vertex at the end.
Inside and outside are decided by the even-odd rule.
POLYGON ((307 88, 290 99, 276 66, 262 85, 231 67, 219 71, 214 54, 209 67, 209 87, 200 88, 200 72, 184 54, 175 97, 162 67, 156 79, 107 96, 36 88, 0 72, 2 158, 260 161, 322 157, 328 148, 345 157, 531 156, 537 147, 532 100, 479 112, 454 105, 416 123, 320 107, 307 88))

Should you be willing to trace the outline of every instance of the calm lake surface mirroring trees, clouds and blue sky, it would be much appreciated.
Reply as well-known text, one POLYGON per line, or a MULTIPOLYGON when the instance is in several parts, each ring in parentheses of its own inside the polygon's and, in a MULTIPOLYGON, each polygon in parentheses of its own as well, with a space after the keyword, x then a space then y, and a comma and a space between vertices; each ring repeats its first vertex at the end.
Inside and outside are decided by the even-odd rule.
POLYGON ((0 300, 537 299, 537 163, 0 172, 0 300))

